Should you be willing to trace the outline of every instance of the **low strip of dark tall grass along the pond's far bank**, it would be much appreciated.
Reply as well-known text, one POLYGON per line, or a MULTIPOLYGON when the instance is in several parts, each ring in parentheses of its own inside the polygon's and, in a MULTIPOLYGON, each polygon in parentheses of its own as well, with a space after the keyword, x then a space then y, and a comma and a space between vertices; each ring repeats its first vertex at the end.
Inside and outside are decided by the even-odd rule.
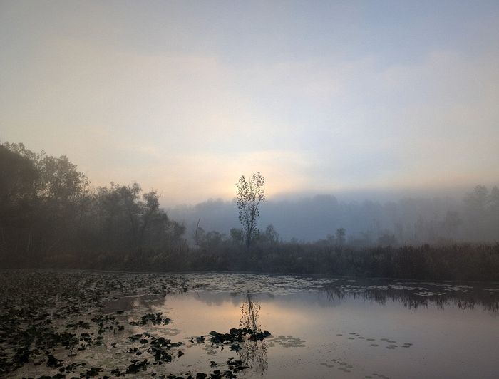
POLYGON ((349 246, 278 243, 245 246, 222 244, 192 249, 81 251, 6 267, 50 267, 124 271, 252 271, 286 274, 334 274, 362 277, 499 281, 499 244, 401 246, 353 249, 349 246))

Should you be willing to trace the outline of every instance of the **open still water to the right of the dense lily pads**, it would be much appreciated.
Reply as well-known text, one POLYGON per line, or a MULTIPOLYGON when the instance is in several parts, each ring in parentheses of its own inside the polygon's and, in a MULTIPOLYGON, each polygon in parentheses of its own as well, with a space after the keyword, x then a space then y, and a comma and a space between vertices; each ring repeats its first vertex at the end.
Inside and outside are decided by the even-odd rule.
MULTIPOLYGON (((185 352, 175 375, 209 372, 229 358, 250 366, 238 377, 498 378, 497 285, 318 279, 293 276, 188 276, 193 289, 109 309, 144 308, 173 321, 161 326, 185 352), (196 337, 252 327, 272 333, 240 351, 196 337), (194 338, 192 340, 192 338, 194 338), (191 342, 192 340, 192 342, 191 342)), ((138 331, 140 332, 140 330, 138 331)))

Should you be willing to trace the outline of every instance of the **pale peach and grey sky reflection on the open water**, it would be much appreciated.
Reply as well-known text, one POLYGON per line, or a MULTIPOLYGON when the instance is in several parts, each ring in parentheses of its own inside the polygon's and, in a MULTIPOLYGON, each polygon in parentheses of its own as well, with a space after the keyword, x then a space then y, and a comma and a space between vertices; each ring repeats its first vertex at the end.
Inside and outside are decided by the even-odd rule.
MULTIPOLYGON (((172 326, 197 336, 237 327, 244 298, 200 292, 168 296, 165 305, 171 309, 172 326)), ((393 301, 381 305, 351 297, 331 303, 314 292, 252 298, 261 306, 259 323, 273 335, 265 340, 269 378, 363 378, 372 373, 391 378, 493 378, 498 369, 498 319, 480 308, 463 311, 449 305, 410 310, 393 301), (304 340, 305 347, 284 347, 278 336, 304 340), (392 343, 383 338, 395 341, 397 347, 386 348, 392 343), (403 343, 412 345, 403 348, 403 343), (343 367, 338 362, 351 365, 351 373, 338 370, 343 367)), ((212 359, 217 360, 217 355, 212 359)))

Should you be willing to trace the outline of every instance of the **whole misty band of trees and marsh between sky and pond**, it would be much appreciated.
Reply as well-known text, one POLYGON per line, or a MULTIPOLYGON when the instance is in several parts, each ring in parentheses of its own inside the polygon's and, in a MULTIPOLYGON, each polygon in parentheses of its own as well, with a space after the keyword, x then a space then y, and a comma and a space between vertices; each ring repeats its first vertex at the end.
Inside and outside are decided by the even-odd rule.
POLYGON ((460 201, 268 202, 248 249, 232 202, 176 207, 169 214, 182 222, 174 221, 158 192, 137 183, 92 187, 67 157, 22 144, 0 145, 0 183, 3 267, 499 280, 497 187, 478 185, 460 201))

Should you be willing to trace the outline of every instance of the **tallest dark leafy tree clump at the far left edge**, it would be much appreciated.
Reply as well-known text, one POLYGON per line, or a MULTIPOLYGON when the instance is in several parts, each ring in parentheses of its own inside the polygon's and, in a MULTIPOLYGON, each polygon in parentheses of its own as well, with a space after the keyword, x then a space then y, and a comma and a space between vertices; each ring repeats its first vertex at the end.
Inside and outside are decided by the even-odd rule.
POLYGON ((1 248, 26 258, 71 244, 86 211, 86 176, 67 157, 22 144, 1 144, 0 158, 1 248))

